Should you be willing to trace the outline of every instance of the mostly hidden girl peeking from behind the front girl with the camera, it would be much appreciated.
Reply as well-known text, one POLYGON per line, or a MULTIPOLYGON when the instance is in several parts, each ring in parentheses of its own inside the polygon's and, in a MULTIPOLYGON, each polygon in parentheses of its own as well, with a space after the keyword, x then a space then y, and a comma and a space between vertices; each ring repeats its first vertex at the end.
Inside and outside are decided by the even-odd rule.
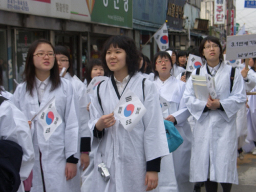
MULTIPOLYGON (((86 65, 86 79, 88 84, 90 84, 91 80, 96 77, 96 76, 104 76, 105 70, 104 66, 101 62, 100 59, 91 59, 86 65)), ((87 110, 89 112, 89 106, 91 103, 91 97, 93 97, 93 94, 87 94, 87 99, 88 99, 88 105, 87 105, 87 110)), ((81 173, 81 191, 82 192, 90 192, 91 184, 92 184, 92 179, 93 179, 93 169, 94 169, 94 154, 97 151, 98 148, 98 140, 93 139, 92 140, 92 146, 91 146, 91 152, 89 154, 90 156, 90 164, 84 170, 84 172, 81 173)), ((97 167, 96 167, 97 168, 97 167)))

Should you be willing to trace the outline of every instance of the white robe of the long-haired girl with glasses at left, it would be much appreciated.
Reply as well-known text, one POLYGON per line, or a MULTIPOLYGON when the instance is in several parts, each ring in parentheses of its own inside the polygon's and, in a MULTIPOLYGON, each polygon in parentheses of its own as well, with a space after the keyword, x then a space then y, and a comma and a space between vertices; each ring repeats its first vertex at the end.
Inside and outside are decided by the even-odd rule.
POLYGON ((79 126, 75 110, 75 97, 72 84, 69 80, 61 78, 61 84, 53 91, 51 83, 48 84, 40 106, 36 88, 33 96, 26 92, 26 82, 20 83, 13 95, 13 102, 30 120, 35 113, 44 108, 47 102, 55 96, 55 105, 62 123, 46 141, 43 127, 37 118, 33 120, 31 131, 33 133, 33 146, 35 151, 35 165, 33 167, 33 186, 31 192, 43 191, 40 169, 39 150, 41 152, 41 166, 44 173, 46 191, 70 192, 80 191, 80 174, 77 164, 77 175, 67 181, 65 176, 66 160, 70 156, 79 159, 80 140, 79 126))

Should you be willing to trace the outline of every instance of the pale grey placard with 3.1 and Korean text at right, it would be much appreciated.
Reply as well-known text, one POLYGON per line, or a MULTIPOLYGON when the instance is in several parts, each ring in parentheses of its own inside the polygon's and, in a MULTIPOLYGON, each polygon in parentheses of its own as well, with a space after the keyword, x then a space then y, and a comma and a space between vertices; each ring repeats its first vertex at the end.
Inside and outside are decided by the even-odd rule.
POLYGON ((227 36, 226 60, 256 57, 256 34, 227 36))

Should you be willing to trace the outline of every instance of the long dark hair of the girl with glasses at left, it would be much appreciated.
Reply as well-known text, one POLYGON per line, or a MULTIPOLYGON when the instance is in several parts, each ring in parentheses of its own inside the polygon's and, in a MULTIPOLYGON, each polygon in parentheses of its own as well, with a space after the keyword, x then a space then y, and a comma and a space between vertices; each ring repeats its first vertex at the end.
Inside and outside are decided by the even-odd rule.
MULTIPOLYGON (((27 82, 26 91, 30 93, 31 96, 33 96, 33 88, 35 86, 35 66, 34 66, 34 52, 38 45, 40 44, 48 44, 52 47, 54 52, 54 47, 52 46, 51 42, 46 39, 39 39, 32 42, 31 46, 28 50, 28 55, 26 59, 26 65, 24 70, 24 81, 27 82)), ((54 52, 55 53, 55 52, 54 52)), ((59 69, 58 69, 58 63, 57 60, 54 60, 54 66, 50 70, 50 81, 52 83, 51 91, 55 90, 60 85, 60 77, 59 77, 59 69)))

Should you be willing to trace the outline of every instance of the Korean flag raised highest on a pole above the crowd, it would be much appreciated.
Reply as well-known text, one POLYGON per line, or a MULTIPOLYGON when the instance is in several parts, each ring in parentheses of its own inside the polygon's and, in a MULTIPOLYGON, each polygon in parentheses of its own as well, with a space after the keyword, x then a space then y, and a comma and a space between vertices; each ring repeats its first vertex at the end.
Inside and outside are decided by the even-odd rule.
POLYGON ((168 30, 166 23, 154 34, 154 39, 161 51, 165 51, 169 48, 168 30))

